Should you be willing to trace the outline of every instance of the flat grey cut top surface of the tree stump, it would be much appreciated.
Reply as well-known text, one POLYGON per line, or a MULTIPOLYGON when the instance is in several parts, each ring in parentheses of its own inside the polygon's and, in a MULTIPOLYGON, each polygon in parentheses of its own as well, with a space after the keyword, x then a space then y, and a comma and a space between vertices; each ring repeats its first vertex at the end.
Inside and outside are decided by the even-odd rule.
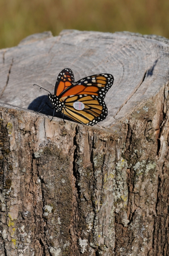
MULTIPOLYGON (((106 72, 113 74, 114 84, 105 98, 108 116, 99 126, 110 127, 168 81, 167 40, 77 30, 64 30, 45 40, 41 37, 0 51, 1 102, 28 108, 35 99, 47 95, 32 85, 54 93, 57 75, 65 67, 73 70, 76 81, 106 72)), ((37 107, 44 104, 43 99, 37 99, 37 107)), ((49 109, 46 111, 51 114, 49 109)))

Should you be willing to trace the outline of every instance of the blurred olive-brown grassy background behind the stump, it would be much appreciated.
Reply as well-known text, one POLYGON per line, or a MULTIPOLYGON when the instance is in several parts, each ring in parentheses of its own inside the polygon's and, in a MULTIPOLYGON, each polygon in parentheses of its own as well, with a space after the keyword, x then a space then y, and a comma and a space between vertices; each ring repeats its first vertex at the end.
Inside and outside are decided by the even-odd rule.
POLYGON ((62 29, 130 31, 169 38, 169 0, 0 0, 0 48, 62 29))

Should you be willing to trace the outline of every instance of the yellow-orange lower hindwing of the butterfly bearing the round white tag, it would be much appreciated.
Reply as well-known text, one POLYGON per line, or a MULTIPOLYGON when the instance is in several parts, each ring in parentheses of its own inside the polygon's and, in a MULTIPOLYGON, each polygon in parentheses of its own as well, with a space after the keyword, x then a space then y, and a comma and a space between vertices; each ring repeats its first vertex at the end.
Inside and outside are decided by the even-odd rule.
POLYGON ((62 113, 75 122, 86 125, 94 125, 107 116, 107 107, 103 99, 95 95, 73 95, 60 98, 64 102, 62 113), (84 108, 77 110, 74 103, 83 103, 84 108))

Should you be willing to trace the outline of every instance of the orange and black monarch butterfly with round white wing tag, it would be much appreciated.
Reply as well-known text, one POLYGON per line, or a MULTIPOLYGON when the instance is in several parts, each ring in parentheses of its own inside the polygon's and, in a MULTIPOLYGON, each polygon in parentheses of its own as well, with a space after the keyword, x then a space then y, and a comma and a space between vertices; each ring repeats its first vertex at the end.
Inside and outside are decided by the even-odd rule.
POLYGON ((61 112, 63 117, 68 116, 80 124, 94 125, 107 116, 107 107, 103 99, 113 81, 111 74, 98 74, 75 82, 71 69, 65 68, 58 75, 54 95, 38 86, 50 93, 48 99, 52 107, 48 103, 45 104, 54 109, 54 112, 61 112))

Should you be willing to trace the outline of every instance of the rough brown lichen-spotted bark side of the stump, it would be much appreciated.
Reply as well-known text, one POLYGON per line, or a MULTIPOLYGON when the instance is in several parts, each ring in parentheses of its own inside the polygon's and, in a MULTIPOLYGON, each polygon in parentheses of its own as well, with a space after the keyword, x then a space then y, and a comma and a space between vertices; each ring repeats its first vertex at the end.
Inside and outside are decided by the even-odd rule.
POLYGON ((166 87, 111 129, 1 109, 2 256, 167 255, 166 87))

